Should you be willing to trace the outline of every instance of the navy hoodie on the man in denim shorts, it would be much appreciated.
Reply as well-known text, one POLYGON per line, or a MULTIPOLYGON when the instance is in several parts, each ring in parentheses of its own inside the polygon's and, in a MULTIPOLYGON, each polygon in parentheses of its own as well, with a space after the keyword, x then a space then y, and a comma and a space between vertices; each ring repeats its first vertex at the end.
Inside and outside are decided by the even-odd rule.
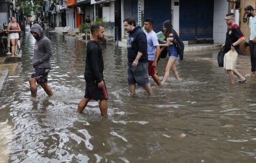
POLYGON ((138 52, 141 52, 143 54, 139 62, 148 61, 147 36, 142 31, 140 26, 136 26, 131 32, 129 32, 127 40, 127 50, 127 58, 129 62, 134 61, 138 52))

